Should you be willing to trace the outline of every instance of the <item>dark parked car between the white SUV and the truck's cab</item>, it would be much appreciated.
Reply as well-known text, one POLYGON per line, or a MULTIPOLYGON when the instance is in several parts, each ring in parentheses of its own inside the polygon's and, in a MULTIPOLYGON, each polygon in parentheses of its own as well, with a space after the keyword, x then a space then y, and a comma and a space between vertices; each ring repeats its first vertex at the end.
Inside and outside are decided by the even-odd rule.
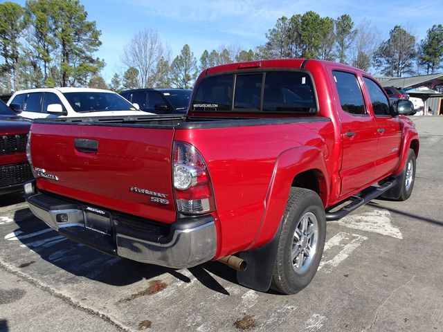
POLYGON ((189 89, 135 89, 122 91, 120 95, 138 104, 142 111, 170 114, 188 111, 191 92, 189 89))

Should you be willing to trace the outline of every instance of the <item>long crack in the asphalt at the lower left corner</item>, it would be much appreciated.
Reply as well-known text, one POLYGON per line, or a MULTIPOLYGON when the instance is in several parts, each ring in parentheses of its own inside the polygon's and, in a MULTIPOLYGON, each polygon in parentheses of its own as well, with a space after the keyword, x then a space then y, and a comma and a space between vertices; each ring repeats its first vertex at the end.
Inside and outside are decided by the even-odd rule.
POLYGON ((46 291, 47 293, 50 293, 51 295, 58 297, 59 299, 62 299, 66 304, 69 304, 70 306, 73 306, 74 308, 78 308, 79 310, 89 313, 89 315, 93 315, 95 317, 99 317, 102 320, 105 320, 106 322, 109 322, 109 324, 114 325, 117 329, 120 331, 132 331, 131 329, 128 329, 126 326, 123 326, 122 324, 116 322, 111 317, 106 315, 105 313, 100 313, 100 311, 96 311, 93 308, 88 308, 87 306, 82 306, 82 304, 75 302, 71 297, 64 295, 62 293, 59 293, 58 291, 55 291, 53 288, 46 286, 45 284, 42 284, 37 279, 34 279, 33 277, 30 277, 29 275, 26 275, 25 273, 22 273, 19 270, 15 270, 14 266, 11 266, 10 264, 1 261, 0 260, 0 268, 3 268, 3 270, 6 270, 8 273, 12 273, 12 275, 15 275, 19 277, 20 279, 23 279, 24 281, 28 282, 28 284, 31 284, 33 286, 36 286, 39 289, 42 289, 43 291, 46 291))

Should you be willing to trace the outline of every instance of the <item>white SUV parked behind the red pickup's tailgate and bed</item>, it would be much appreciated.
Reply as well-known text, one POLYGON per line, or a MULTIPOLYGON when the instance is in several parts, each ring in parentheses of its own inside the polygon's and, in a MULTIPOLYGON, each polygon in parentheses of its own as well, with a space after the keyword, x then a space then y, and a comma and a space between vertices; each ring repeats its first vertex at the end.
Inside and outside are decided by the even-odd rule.
POLYGON ((29 119, 146 115, 118 93, 89 88, 17 91, 8 101, 8 106, 29 119))

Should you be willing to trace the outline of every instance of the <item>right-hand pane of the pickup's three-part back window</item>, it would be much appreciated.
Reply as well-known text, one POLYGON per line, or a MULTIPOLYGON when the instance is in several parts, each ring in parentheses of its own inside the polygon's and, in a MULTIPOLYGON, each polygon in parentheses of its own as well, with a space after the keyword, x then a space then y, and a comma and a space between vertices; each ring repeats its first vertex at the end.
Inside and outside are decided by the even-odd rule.
POLYGON ((311 77, 298 72, 269 72, 264 80, 263 111, 316 113, 311 77))

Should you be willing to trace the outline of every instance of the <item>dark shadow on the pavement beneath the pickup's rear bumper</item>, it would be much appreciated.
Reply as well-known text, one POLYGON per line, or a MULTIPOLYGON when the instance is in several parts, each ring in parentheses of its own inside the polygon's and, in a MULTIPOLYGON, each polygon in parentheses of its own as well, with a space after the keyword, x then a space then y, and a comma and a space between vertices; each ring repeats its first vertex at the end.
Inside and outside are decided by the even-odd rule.
MULTIPOLYGON (((192 282, 188 275, 192 275, 202 285, 221 294, 229 295, 228 291, 217 282, 213 275, 236 283, 235 271, 218 262, 208 262, 186 270, 175 270, 162 266, 138 263, 121 257, 114 257, 98 252, 92 248, 76 243, 60 236, 55 230, 33 216, 29 209, 15 212, 14 221, 18 228, 14 230, 20 243, 37 253, 48 263, 61 268, 72 275, 109 284, 111 286, 128 286, 143 279, 154 279, 168 273, 177 281, 192 282), (213 275, 211 275, 211 273, 213 275)), ((30 262, 34 264, 35 262, 30 262)), ((26 267, 30 264, 21 264, 26 267)), ((42 274, 48 271, 42 267, 42 274)))

